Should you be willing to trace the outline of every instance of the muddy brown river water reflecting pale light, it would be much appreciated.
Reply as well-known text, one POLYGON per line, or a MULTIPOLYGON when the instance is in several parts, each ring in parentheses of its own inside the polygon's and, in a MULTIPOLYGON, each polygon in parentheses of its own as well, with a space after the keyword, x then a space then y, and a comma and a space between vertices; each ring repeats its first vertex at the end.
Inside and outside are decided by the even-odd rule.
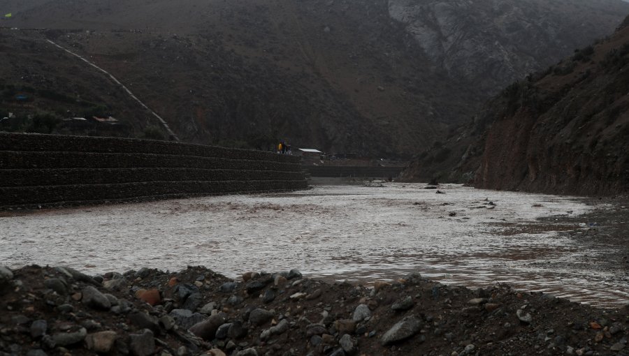
POLYGON ((570 263, 600 252, 559 233, 587 225, 536 221, 588 212, 578 198, 379 185, 5 214, 0 263, 68 265, 89 274, 203 265, 233 278, 296 268, 362 283, 417 271, 442 283, 509 283, 595 306, 629 302, 627 285, 570 263))

